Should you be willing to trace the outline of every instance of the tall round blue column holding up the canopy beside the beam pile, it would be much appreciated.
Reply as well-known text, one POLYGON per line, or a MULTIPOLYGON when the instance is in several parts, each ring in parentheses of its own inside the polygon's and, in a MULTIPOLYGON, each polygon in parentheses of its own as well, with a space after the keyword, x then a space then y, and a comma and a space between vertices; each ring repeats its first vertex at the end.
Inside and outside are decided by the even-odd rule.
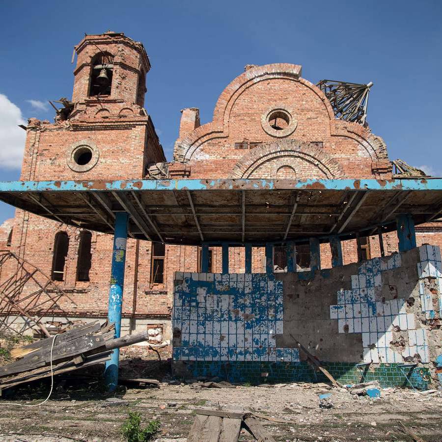
MULTIPOLYGON (((111 289, 109 291, 108 318, 115 324, 115 337, 120 337, 121 309, 123 306, 124 267, 126 263, 127 221, 129 215, 125 212, 115 214, 113 235, 111 289)), ((106 362, 105 380, 109 391, 118 384, 118 348, 112 351, 111 360, 106 362)))

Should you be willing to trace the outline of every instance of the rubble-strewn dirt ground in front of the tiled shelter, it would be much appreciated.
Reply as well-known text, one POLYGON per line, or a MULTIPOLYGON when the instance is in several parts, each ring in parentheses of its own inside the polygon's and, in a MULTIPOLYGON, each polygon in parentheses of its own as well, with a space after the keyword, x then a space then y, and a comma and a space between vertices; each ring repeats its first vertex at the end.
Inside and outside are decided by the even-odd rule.
MULTIPOLYGON (((284 421, 259 419, 276 441, 412 441, 399 421, 424 441, 442 441, 440 391, 421 394, 390 388, 382 389, 381 398, 368 399, 325 384, 202 388, 195 383, 162 383, 159 388, 119 387, 108 395, 100 393, 98 380, 71 379, 60 387, 64 382, 56 380, 53 396, 39 407, 5 402, 36 404, 46 397, 48 384, 2 398, 0 440, 121 441, 120 428, 128 412, 138 411, 144 422, 161 422, 156 441, 186 441, 195 408, 242 406, 284 421), (332 408, 319 407, 322 393, 331 393, 332 408)), ((244 433, 240 440, 252 438, 244 433)))

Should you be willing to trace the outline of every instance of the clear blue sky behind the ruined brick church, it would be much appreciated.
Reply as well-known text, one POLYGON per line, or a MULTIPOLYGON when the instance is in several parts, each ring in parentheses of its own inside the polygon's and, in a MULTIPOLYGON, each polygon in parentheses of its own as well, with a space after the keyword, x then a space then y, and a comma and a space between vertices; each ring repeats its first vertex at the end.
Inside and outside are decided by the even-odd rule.
MULTIPOLYGON (((108 29, 146 48, 145 107, 168 159, 181 109, 210 121, 246 64, 288 62, 313 83, 372 81, 368 121, 390 158, 442 176, 441 1, 19 0, 1 2, 0 17, 0 180, 19 177, 16 125, 53 119, 47 100, 72 94, 73 46, 108 29)), ((11 216, 0 204, 0 222, 11 216)))

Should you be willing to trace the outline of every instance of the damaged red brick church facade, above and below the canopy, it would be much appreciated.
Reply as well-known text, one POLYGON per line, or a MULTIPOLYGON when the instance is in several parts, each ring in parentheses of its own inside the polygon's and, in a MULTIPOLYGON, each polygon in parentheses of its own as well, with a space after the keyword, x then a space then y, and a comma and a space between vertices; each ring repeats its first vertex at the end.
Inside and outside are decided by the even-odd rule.
MULTIPOLYGON (((54 123, 29 119, 21 179, 143 178, 148 166, 166 159, 144 109, 150 62, 142 44, 124 34, 107 32, 85 36, 76 53, 72 109, 57 114, 54 123), (97 83, 93 73, 102 68, 111 77, 110 93, 103 89, 104 93, 93 95, 92 87, 97 83), (91 157, 83 165, 76 162, 82 152, 91 157)), ((335 119, 323 92, 301 77, 301 66, 279 63, 247 66, 222 91, 213 120, 207 124, 200 125, 198 109, 184 109, 168 170, 171 178, 388 179, 392 168, 382 138, 368 127, 335 119)), ((75 213, 72 219, 75 222, 75 213)), ((112 222, 111 218, 108 221, 112 222)), ((17 210, 14 220, 1 227, 1 248, 10 249, 50 275, 55 235, 61 231, 69 237, 69 248, 63 280, 58 284, 76 303, 64 302, 61 310, 69 317, 105 317, 110 235, 92 232, 89 281, 77 280, 81 226, 17 210), (12 241, 8 241, 11 230, 12 241)), ((421 232, 417 238, 419 244, 442 243, 438 233, 421 232)), ((370 237, 369 243, 371 256, 379 256, 378 237, 370 237)), ((386 254, 397 250, 396 236, 385 235, 384 246, 386 254)), ((343 243, 345 264, 357 261, 356 249, 355 240, 343 243)), ((322 267, 331 267, 329 245, 321 245, 321 252, 322 267)), ((167 321, 173 273, 198 271, 197 247, 166 245, 163 282, 154 283, 151 254, 151 243, 128 239, 125 318, 167 321)), ((244 273, 244 249, 231 248, 229 256, 230 272, 244 273)), ((252 256, 252 271, 262 272, 264 249, 253 248, 252 256)), ((220 248, 212 250, 212 266, 213 272, 221 272, 220 248)))

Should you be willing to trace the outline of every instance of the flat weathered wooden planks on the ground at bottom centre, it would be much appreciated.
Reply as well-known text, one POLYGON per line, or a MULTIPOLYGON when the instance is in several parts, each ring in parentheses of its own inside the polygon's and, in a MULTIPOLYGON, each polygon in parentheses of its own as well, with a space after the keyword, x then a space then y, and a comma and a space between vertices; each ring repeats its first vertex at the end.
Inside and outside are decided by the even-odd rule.
POLYGON ((258 442, 275 442, 251 413, 226 410, 195 410, 188 442, 234 442, 245 428, 258 442))

